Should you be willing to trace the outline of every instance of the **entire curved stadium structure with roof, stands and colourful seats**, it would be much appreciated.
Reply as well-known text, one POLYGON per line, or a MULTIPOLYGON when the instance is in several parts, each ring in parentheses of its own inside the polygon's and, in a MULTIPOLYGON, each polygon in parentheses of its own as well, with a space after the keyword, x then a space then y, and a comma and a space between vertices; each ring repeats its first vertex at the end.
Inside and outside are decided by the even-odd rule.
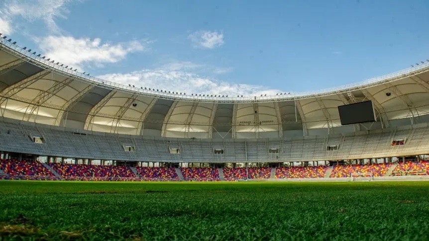
POLYGON ((429 174, 428 61, 315 93, 241 97, 100 80, 35 55, 7 36, 0 54, 6 179, 429 174), (351 108, 343 119, 338 106, 351 108))

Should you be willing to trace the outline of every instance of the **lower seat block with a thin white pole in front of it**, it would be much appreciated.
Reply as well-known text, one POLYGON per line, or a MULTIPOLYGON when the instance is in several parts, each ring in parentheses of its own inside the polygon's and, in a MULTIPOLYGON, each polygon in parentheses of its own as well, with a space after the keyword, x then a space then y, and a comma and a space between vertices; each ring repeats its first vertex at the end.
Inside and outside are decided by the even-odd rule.
MULTIPOLYGON (((225 167, 223 168, 223 175, 226 181, 234 181, 238 179, 246 179, 245 167, 225 167)), ((270 167, 248 167, 248 179, 268 179, 271 176, 270 167)))

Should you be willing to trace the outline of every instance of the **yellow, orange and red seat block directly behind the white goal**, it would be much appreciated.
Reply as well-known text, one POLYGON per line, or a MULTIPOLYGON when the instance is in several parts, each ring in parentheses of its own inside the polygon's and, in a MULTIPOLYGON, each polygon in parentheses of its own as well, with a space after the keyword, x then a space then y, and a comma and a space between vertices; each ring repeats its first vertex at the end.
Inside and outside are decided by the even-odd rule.
POLYGON ((391 166, 391 163, 380 163, 380 164, 364 164, 364 165, 335 165, 332 168, 330 177, 350 177, 351 173, 369 173, 373 176, 384 176, 386 175, 387 169, 391 166))

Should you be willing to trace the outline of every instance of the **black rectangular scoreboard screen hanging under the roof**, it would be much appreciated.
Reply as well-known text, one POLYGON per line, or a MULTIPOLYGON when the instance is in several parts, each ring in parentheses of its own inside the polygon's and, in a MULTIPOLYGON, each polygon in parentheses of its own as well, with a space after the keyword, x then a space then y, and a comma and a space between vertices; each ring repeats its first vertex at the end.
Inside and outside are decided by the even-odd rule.
POLYGON ((375 121, 374 106, 371 100, 340 105, 338 106, 338 112, 341 125, 375 121))

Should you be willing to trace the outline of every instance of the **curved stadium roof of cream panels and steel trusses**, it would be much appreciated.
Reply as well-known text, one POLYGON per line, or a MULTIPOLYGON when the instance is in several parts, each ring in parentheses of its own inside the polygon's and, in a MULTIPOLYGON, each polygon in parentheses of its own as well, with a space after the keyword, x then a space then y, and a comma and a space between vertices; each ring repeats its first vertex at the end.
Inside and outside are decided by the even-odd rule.
POLYGON ((384 127, 429 112, 429 62, 313 93, 212 97, 125 86, 74 71, 1 38, 1 116, 55 126, 141 135, 212 138, 340 125, 337 106, 372 100, 384 127))

